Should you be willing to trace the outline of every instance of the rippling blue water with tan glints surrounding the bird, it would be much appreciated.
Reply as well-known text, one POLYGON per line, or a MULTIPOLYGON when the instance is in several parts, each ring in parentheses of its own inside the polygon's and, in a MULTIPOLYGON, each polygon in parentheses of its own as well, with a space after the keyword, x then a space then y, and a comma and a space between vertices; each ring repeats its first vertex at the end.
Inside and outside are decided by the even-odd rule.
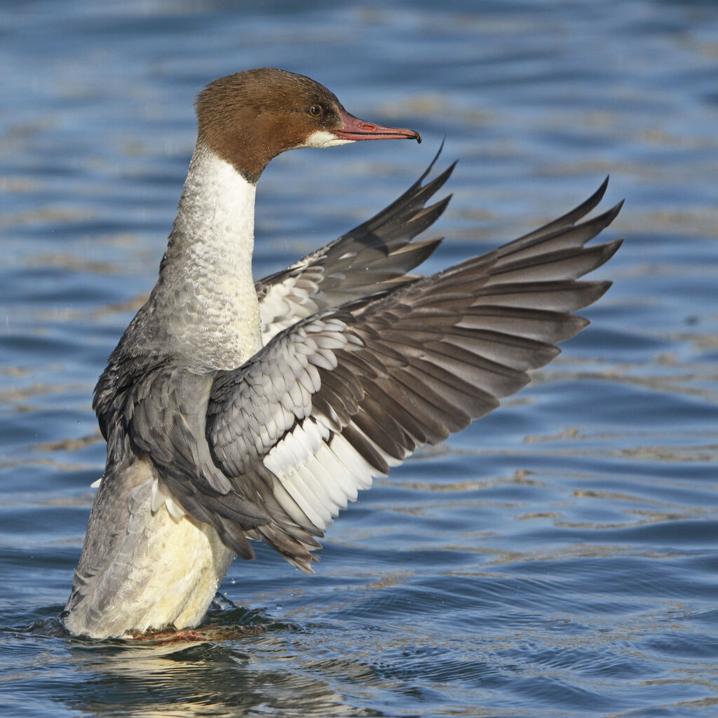
POLYGON ((718 6, 242 7, 3 3, 0 714, 718 714, 718 6), (429 271, 610 173, 615 286, 531 386, 342 514, 316 576, 269 550, 233 564, 241 608, 215 620, 244 635, 68 638, 104 461, 93 384, 154 282, 193 95, 262 65, 424 144, 273 162, 257 274, 396 197, 446 134, 461 161, 429 271))

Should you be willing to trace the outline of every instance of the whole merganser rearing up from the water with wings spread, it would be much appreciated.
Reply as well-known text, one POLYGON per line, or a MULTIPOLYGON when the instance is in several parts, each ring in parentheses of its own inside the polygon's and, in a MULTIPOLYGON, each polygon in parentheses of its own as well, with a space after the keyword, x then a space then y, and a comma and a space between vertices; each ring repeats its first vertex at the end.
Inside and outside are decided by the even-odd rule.
MULTIPOLYGON (((108 360, 93 407, 107 441, 72 594, 73 634, 201 623, 230 562, 264 539, 312 572, 317 538, 422 444, 488 414, 582 330, 620 246, 584 247, 616 205, 582 205, 432 276, 414 241, 447 206, 431 168, 385 210, 254 282, 256 182, 279 153, 416 139, 350 115, 327 88, 263 68, 210 83, 159 279, 108 360)), ((436 158, 434 158, 436 159, 436 158)), ((434 164, 432 162, 432 164, 434 164)))

